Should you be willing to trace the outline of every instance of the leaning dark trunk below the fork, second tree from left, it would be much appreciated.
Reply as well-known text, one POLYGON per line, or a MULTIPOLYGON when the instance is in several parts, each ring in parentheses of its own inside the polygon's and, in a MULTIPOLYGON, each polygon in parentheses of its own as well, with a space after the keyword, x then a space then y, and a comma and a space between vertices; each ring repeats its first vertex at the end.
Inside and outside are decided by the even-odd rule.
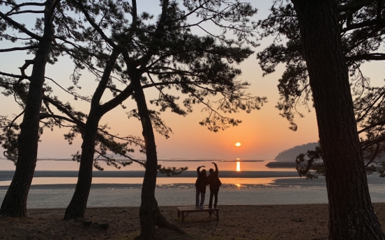
POLYGON ((80 157, 80 168, 77 176, 77 184, 73 198, 64 214, 64 220, 82 220, 86 212, 89 191, 92 183, 93 154, 95 153, 95 140, 98 132, 98 124, 101 115, 90 111, 84 129, 82 156, 80 157))

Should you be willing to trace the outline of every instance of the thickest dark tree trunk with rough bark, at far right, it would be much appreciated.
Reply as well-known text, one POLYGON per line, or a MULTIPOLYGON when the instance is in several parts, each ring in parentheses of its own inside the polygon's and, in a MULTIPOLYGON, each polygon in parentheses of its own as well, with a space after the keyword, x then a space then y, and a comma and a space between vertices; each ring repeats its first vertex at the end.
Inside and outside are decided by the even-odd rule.
POLYGON ((329 239, 384 239, 370 202, 333 0, 292 0, 326 168, 329 239))

